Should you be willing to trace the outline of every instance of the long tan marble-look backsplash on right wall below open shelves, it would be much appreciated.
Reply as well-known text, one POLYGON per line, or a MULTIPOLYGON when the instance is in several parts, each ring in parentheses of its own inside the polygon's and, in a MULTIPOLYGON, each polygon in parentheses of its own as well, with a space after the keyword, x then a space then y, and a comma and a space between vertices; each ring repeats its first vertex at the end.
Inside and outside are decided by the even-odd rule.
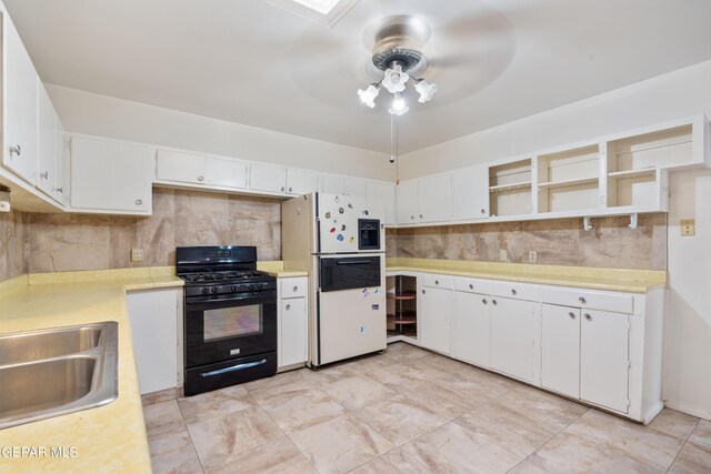
POLYGON ((643 214, 638 228, 629 216, 593 218, 591 231, 582 219, 558 219, 433 228, 387 233, 388 256, 537 263, 637 270, 667 270, 667 214, 643 214))

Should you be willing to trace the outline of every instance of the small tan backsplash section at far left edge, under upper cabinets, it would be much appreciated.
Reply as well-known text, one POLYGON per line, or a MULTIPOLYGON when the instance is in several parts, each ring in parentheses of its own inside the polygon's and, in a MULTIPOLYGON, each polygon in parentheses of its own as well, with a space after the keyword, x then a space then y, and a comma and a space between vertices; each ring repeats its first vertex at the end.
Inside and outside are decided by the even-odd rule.
POLYGON ((0 212, 0 281, 28 272, 28 215, 19 211, 0 212))

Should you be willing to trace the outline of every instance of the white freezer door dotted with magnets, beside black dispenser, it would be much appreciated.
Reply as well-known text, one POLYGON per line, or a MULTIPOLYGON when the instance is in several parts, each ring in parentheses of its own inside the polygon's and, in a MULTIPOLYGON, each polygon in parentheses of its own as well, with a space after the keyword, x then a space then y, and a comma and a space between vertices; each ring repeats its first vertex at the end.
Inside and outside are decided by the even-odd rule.
POLYGON ((320 253, 358 252, 358 218, 362 198, 319 194, 320 253))

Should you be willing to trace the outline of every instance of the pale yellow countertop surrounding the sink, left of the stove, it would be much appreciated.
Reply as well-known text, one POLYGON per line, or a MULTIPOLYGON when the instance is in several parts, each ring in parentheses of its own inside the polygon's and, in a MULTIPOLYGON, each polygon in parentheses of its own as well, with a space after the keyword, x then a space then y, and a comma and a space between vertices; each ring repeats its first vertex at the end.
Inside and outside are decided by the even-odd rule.
POLYGON ((172 268, 30 274, 0 283, 0 333, 119 323, 119 396, 108 405, 0 430, 7 446, 76 448, 76 457, 0 457, 0 473, 150 473, 127 290, 182 286, 172 268), (29 284, 28 284, 29 283, 29 284))

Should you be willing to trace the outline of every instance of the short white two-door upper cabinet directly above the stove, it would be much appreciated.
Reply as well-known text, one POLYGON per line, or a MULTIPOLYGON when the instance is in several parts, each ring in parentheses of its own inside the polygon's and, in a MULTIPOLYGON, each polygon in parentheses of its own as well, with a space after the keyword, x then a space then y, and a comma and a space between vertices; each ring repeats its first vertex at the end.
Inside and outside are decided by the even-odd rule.
POLYGON ((167 183, 244 190, 247 163, 159 149, 156 154, 156 179, 167 183))

